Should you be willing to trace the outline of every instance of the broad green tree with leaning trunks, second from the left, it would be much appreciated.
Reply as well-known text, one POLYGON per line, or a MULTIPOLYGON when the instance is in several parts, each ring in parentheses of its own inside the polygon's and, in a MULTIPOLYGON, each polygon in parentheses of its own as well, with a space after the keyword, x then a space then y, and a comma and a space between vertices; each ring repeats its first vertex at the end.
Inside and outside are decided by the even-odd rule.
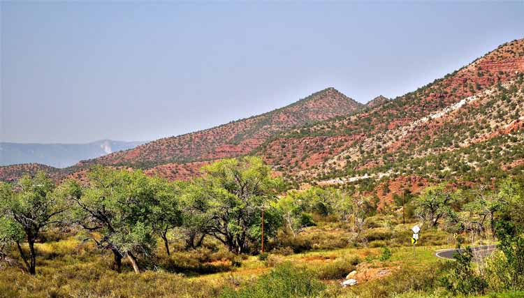
MULTIPOLYGON (((163 190, 141 171, 95 167, 89 173, 89 186, 69 198, 74 204, 72 220, 82 226, 99 248, 115 255, 115 266, 127 256, 149 256, 156 247, 154 227, 159 222, 157 193, 163 190), (99 235, 101 237, 99 237, 99 235)), ((138 267, 136 267, 138 271, 138 267)))

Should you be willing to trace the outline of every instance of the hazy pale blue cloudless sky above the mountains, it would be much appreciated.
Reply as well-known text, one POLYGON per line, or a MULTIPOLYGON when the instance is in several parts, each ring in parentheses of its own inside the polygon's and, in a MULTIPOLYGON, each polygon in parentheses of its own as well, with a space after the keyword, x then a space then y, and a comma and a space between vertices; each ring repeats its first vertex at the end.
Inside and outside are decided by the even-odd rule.
POLYGON ((400 96, 523 38, 523 3, 1 1, 0 140, 154 140, 326 87, 400 96))

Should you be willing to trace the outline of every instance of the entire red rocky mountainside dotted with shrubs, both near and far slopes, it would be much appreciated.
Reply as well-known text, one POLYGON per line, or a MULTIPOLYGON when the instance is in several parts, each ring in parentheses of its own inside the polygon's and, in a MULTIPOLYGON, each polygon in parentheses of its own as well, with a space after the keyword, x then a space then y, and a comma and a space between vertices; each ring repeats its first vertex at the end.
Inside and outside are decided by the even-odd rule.
MULTIPOLYGON (((391 199, 405 183, 420 188, 428 181, 487 181, 523 172, 524 39, 416 91, 383 99, 361 109, 330 88, 279 110, 150 142, 61 173, 101 163, 184 179, 213 159, 257 154, 293 183, 360 188, 360 181, 380 180, 378 188, 366 182, 365 189, 379 189, 379 197, 391 199)), ((8 171, 0 167, 0 179, 2 172, 8 171)))

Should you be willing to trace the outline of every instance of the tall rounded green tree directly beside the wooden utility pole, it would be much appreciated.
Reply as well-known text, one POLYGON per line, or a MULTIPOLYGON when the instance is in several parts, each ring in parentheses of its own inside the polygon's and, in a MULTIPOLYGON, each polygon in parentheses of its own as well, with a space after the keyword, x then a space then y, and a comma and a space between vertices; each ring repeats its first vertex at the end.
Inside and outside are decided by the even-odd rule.
MULTIPOLYGON (((204 175, 187 193, 189 211, 205 221, 206 232, 235 253, 258 247, 261 239, 261 209, 264 237, 272 237, 281 216, 271 207, 282 190, 282 181, 270 175, 261 158, 224 159, 203 167, 204 175)), ((187 216, 186 216, 187 218, 187 216)), ((200 220, 199 220, 200 221, 200 220)))

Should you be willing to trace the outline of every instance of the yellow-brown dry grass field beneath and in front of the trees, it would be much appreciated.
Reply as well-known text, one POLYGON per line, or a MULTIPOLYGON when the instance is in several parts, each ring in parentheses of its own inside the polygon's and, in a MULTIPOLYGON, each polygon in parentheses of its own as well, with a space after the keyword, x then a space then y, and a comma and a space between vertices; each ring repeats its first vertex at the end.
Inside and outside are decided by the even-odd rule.
MULTIPOLYGON (((398 225, 393 230, 409 226, 398 225)), ((380 231, 378 228, 374 232, 380 231)), ((312 278, 325 286, 323 297, 442 297, 428 292, 432 285, 417 285, 421 282, 417 278, 427 280, 445 266, 446 261, 436 258, 435 251, 454 246, 448 243, 449 235, 437 231, 421 234, 415 254, 412 246, 399 238, 402 233, 397 233, 397 238, 375 239, 366 246, 326 248, 346 236, 344 229, 330 224, 311 228, 296 241, 315 239, 316 247, 322 248, 300 253, 276 250, 278 253, 270 253, 267 258, 234 255, 212 242, 185 251, 174 242, 173 253, 168 256, 159 248, 154 260, 143 264, 147 270, 142 274, 135 274, 127 262, 121 273, 111 270, 110 253, 70 236, 36 245, 36 276, 15 267, 1 269, 0 297, 217 297, 225 288, 249 287, 260 276, 286 264, 312 272, 312 278), (391 247, 389 256, 384 257, 384 247, 377 243, 391 247), (358 285, 342 288, 340 282, 353 270, 357 271, 353 278, 358 285)), ((17 259, 16 251, 11 255, 17 259)))

